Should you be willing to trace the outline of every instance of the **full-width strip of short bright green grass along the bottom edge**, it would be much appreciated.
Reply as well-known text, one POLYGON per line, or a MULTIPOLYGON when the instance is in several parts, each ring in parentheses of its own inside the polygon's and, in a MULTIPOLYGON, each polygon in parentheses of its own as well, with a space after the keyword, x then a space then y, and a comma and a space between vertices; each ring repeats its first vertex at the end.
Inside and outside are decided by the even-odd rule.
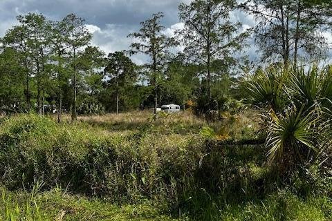
MULTIPOLYGON (((206 193, 205 193, 206 194, 206 193)), ((194 217, 190 213, 172 215, 167 206, 151 200, 136 204, 112 204, 107 198, 86 198, 61 189, 27 193, 2 190, 0 220, 331 220, 332 200, 297 198, 289 191, 278 191, 265 199, 242 204, 224 204, 210 199, 194 217), (177 217, 177 218, 174 218, 177 217)), ((194 200, 194 199, 189 199, 194 200)), ((201 202, 196 202, 202 206, 201 202)))

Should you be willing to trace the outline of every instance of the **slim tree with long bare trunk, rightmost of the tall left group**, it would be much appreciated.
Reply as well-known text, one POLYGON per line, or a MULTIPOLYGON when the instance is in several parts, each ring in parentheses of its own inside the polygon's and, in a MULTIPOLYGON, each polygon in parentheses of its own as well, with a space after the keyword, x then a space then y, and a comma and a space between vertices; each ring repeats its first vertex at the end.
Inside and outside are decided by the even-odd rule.
POLYGON ((66 44, 68 44, 68 55, 71 59, 71 84, 73 86, 73 104, 71 119, 77 119, 77 53, 80 52, 84 46, 89 45, 92 35, 84 24, 84 19, 76 15, 67 15, 63 19, 64 28, 66 30, 66 44))

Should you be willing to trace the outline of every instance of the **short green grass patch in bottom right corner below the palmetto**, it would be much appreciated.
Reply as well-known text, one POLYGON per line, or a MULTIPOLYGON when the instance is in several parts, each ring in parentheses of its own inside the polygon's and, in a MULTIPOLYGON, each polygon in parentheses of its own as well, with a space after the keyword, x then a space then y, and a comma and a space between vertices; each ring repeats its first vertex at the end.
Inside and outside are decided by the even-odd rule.
POLYGON ((301 200, 290 192, 278 192, 264 200, 226 206, 214 220, 331 220, 332 201, 326 198, 301 200))

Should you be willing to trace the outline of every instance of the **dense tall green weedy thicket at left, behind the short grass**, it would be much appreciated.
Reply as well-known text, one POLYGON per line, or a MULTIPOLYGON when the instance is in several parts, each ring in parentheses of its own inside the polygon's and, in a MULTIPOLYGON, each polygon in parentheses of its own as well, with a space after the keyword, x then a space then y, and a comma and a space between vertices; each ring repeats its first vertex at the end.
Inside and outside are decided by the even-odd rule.
POLYGON ((17 189, 39 179, 47 189, 60 185, 121 199, 174 196, 173 180, 193 171, 201 142, 192 136, 160 136, 105 133, 37 115, 11 117, 0 128, 1 182, 17 189))

